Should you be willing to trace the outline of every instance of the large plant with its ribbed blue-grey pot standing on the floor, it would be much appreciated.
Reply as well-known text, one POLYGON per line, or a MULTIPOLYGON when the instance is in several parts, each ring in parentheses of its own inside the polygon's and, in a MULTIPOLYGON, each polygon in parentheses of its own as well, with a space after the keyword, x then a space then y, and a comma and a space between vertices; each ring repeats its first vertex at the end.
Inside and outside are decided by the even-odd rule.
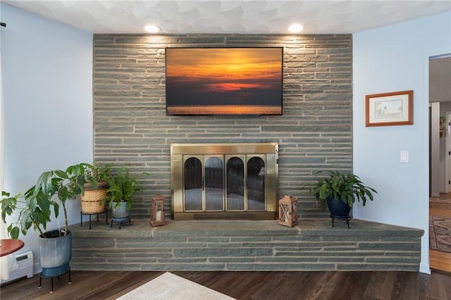
POLYGON ((85 171, 89 167, 89 164, 80 163, 70 165, 66 171, 44 172, 23 196, 2 192, 1 218, 4 222, 6 215, 19 211, 18 220, 8 226, 9 235, 17 239, 20 232, 26 235, 30 227, 39 232, 43 277, 56 277, 70 270, 72 234, 68 230, 66 202, 84 193, 83 185, 89 177, 85 171), (60 207, 63 208, 64 228, 45 231, 52 211, 58 219, 60 207))

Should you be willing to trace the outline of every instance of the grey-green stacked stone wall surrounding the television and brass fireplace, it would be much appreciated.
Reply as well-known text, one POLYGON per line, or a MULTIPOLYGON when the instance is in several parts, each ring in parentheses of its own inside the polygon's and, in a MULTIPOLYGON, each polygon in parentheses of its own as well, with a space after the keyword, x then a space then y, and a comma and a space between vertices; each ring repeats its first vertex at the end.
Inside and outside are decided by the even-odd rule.
MULTIPOLYGON (((352 169, 352 35, 94 35, 94 160, 146 172, 132 218, 152 195, 171 209, 171 143, 279 144, 279 199, 326 216, 300 188, 318 170, 352 169), (166 116, 165 48, 283 46, 283 115, 166 116)), ((364 112, 359 112, 364 113, 364 112)))

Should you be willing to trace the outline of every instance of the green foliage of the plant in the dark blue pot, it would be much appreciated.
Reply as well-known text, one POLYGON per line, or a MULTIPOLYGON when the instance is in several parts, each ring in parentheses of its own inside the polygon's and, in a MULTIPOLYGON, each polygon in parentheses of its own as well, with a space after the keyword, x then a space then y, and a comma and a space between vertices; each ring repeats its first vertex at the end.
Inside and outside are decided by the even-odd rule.
POLYGON ((362 200, 365 206, 368 199, 373 201, 373 193, 377 194, 375 189, 366 187, 357 175, 340 173, 338 170, 327 173, 328 177, 317 177, 314 184, 304 186, 309 187, 309 194, 316 197, 322 209, 326 208, 328 197, 343 201, 349 206, 352 206, 356 200, 362 200))

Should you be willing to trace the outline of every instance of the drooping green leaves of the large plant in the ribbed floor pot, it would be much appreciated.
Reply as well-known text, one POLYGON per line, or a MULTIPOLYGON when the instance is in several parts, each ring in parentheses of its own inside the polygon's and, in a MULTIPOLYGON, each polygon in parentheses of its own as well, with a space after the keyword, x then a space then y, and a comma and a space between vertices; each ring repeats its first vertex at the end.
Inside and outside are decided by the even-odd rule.
POLYGON ((11 196, 7 192, 1 192, 1 218, 6 221, 6 215, 11 215, 18 209, 18 220, 8 226, 8 233, 13 239, 17 239, 20 232, 26 235, 30 227, 33 227, 44 236, 47 223, 50 222, 51 213, 58 218, 60 206, 63 208, 64 230, 60 234, 68 232, 68 215, 66 202, 75 199, 79 194, 84 194, 83 185, 92 180, 87 175, 87 168, 93 168, 87 163, 70 165, 65 171, 51 170, 42 173, 36 184, 25 192, 11 196))

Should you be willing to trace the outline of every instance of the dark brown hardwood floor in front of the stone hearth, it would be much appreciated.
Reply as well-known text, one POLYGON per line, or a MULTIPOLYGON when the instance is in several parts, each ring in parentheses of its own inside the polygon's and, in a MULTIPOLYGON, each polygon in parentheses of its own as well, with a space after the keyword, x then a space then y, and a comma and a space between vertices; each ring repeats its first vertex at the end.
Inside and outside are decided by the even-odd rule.
MULTIPOLYGON (((451 274, 433 272, 171 272, 236 299, 451 300, 451 274)), ((72 271, 38 289, 39 275, 1 286, 1 299, 116 299, 163 272, 72 271)), ((152 299, 152 294, 148 299, 152 299)), ((180 295, 183 298, 183 294, 180 295)), ((176 300, 176 299, 175 299, 176 300)))

